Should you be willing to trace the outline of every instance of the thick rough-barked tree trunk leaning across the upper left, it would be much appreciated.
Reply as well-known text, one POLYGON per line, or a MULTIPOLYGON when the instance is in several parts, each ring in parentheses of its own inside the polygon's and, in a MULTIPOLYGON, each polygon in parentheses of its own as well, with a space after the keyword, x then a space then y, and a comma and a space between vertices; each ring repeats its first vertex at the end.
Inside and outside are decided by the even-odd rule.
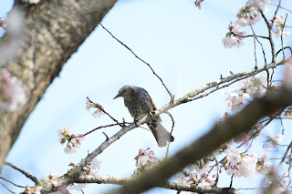
MULTIPOLYGON (((47 87, 116 1, 43 0, 36 5, 14 5, 13 10, 23 10, 26 15, 24 41, 13 59, 0 59, 0 63, 2 70, 22 81, 28 100, 13 113, 0 114, 0 169, 47 87)), ((1 48, 5 49, 5 43, 3 38, 1 48)))

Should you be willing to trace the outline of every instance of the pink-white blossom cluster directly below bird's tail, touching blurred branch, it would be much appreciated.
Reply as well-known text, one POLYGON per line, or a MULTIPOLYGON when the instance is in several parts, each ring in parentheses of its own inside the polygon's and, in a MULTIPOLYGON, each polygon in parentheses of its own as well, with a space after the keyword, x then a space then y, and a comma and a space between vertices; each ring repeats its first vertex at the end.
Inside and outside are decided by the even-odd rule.
POLYGON ((136 160, 136 170, 132 177, 141 174, 149 168, 158 165, 163 159, 154 157, 155 153, 150 149, 140 149, 138 155, 134 158, 136 160))

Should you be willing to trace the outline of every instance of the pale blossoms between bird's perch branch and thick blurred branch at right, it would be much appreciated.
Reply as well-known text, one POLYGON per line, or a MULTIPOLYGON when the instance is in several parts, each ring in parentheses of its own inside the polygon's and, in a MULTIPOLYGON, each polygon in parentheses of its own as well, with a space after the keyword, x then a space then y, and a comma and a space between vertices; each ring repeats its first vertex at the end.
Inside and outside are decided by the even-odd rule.
POLYGON ((266 93, 266 77, 246 78, 239 89, 231 89, 228 93, 222 90, 222 97, 228 102, 228 108, 238 110, 244 105, 244 101, 249 97, 258 97, 266 93))

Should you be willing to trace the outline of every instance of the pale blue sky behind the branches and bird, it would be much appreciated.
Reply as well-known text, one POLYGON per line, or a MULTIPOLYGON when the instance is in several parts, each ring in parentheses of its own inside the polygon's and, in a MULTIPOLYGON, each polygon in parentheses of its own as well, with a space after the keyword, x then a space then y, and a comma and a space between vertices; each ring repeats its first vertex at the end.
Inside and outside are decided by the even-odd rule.
MULTIPOLYGON (((229 22, 235 21, 237 10, 245 2, 205 0, 202 10, 199 10, 191 0, 121 0, 104 17, 102 24, 136 55, 150 63, 172 94, 179 98, 219 79, 220 75, 229 76, 229 71, 239 73, 255 66, 252 38, 246 39, 245 46, 240 49, 224 49, 221 43, 229 22)), ((11 5, 12 1, 2 3, 0 15, 5 15, 11 5)), ((255 32, 266 35, 266 26, 263 23, 255 26, 255 32)), ((276 44, 279 48, 279 40, 276 44)), ((268 43, 264 42, 264 46, 267 47, 268 43)), ((262 66, 259 48, 257 53, 259 66, 262 66)), ((269 53, 268 49, 266 53, 269 53)), ((280 73, 281 69, 276 68, 276 72, 280 73)), ((120 87, 125 85, 144 87, 156 107, 162 107, 170 101, 149 67, 98 26, 68 60, 60 76, 47 88, 6 161, 26 169, 37 178, 47 176, 51 169, 56 169, 59 175, 66 173, 69 162, 78 163, 88 150, 94 150, 105 140, 102 132, 110 137, 120 128, 106 128, 92 133, 80 151, 73 155, 64 154, 63 147, 57 143, 57 129, 67 124, 74 133, 85 133, 112 123, 106 116, 91 117, 91 113, 85 109, 86 97, 103 105, 113 117, 132 121, 127 108, 123 106, 123 100, 112 100, 120 87)), ((236 87, 239 84, 232 86, 236 87)), ((171 145, 171 155, 207 132, 223 117, 226 107, 219 91, 173 108, 175 141, 171 145)), ((162 120, 164 127, 170 129, 170 118, 162 116, 162 120)), ((270 128, 271 133, 281 131, 276 125, 270 128)), ((99 174, 130 177, 135 169, 133 158, 139 148, 151 148, 158 157, 163 157, 166 151, 166 148, 157 147, 149 131, 142 128, 131 130, 98 157, 102 161, 99 174)), ((32 185, 30 180, 11 168, 3 168, 2 176, 21 185, 32 185)), ((256 181, 235 179, 235 188, 242 187, 243 182, 250 187, 257 186, 256 181)), ((228 187, 229 180, 220 179, 219 184, 228 187)), ((85 189, 85 193, 101 193, 112 187, 115 186, 92 185, 85 189)), ((152 189, 149 193, 162 191, 175 193, 165 189, 152 189)), ((6 190, 0 187, 0 192, 5 193, 6 190)))

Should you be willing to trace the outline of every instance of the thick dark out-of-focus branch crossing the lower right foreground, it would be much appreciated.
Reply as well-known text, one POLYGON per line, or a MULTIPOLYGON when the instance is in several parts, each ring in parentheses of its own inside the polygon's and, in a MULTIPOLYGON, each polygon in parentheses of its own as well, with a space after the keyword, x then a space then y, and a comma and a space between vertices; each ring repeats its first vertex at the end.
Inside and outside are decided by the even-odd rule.
POLYGON ((141 193, 164 184, 173 174, 196 160, 219 148, 224 142, 247 132, 261 117, 274 113, 279 108, 292 104, 292 92, 285 88, 270 91, 266 96, 255 98, 234 117, 229 117, 214 126, 202 138, 183 148, 172 158, 165 159, 160 166, 151 168, 146 173, 125 184, 112 193, 141 193))

